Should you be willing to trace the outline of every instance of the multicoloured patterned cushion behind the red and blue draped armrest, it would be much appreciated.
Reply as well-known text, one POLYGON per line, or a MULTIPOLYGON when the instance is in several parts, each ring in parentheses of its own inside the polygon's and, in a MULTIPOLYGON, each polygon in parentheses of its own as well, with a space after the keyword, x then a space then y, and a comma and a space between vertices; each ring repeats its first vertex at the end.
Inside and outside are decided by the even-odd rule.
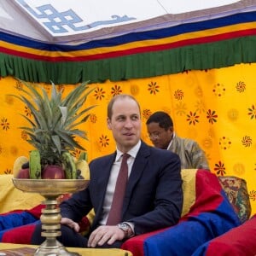
POLYGON ((241 219, 241 223, 244 223, 250 218, 252 212, 246 181, 234 176, 219 176, 218 180, 241 219))

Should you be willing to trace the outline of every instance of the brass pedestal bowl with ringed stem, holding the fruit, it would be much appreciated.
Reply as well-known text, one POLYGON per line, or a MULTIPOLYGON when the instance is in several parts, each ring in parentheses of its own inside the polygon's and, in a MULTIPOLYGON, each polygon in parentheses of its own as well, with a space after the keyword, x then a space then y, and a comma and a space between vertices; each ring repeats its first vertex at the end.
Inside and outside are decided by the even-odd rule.
POLYGON ((89 181, 84 179, 23 179, 13 178, 17 189, 25 192, 39 193, 45 198, 45 208, 42 209, 42 236, 45 241, 38 247, 36 256, 46 255, 79 255, 70 253, 57 241, 56 237, 61 236, 61 212, 58 207, 57 197, 65 193, 73 193, 85 189, 89 181))

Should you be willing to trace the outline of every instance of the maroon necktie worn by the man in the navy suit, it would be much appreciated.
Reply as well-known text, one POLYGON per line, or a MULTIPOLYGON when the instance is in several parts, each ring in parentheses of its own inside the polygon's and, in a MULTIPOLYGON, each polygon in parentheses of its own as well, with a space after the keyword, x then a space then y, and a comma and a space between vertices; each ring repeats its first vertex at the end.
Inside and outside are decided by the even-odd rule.
POLYGON ((126 183, 128 180, 128 165, 127 159, 130 157, 130 154, 123 154, 123 159, 121 167, 119 170, 119 176, 117 178, 115 189, 113 193, 113 201, 108 214, 107 225, 116 225, 119 224, 121 220, 121 212, 124 202, 126 183))

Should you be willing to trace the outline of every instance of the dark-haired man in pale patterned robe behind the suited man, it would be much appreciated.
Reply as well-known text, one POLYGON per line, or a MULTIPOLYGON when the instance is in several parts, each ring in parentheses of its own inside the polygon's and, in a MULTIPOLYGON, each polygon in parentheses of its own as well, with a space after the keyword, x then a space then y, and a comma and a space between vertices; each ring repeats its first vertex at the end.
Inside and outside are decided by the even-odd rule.
POLYGON ((155 148, 162 148, 179 155, 182 169, 210 170, 204 151, 195 141, 177 137, 172 118, 168 113, 158 111, 149 116, 148 136, 155 148))

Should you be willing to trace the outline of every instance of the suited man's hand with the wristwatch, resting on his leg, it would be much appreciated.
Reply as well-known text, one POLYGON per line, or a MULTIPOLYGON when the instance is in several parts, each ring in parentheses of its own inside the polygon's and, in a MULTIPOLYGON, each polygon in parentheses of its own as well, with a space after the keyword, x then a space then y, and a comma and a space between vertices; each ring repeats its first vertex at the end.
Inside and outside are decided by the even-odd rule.
POLYGON ((94 230, 89 237, 88 247, 102 246, 108 242, 109 245, 113 242, 123 240, 125 238, 125 232, 120 230, 118 226, 99 226, 94 230))

